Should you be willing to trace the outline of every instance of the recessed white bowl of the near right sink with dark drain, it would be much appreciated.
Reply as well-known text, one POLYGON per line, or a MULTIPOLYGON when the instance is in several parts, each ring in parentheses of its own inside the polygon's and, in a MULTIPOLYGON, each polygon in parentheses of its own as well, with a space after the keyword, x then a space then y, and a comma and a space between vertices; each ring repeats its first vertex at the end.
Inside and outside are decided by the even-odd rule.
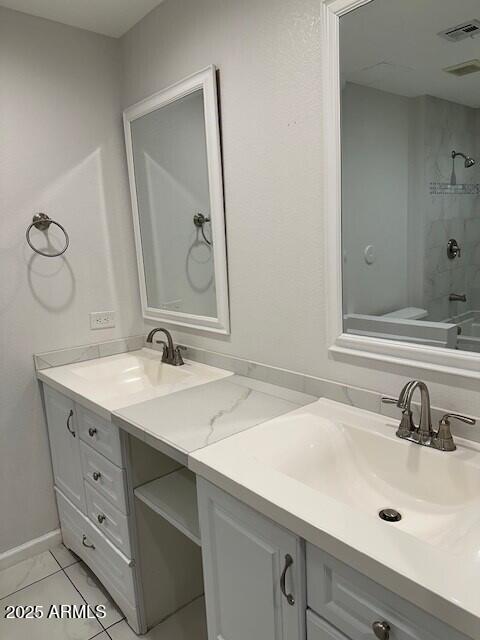
POLYGON ((332 415, 318 403, 249 436, 256 460, 315 491, 375 518, 386 507, 399 511, 402 520, 385 527, 452 553, 480 550, 475 448, 443 453, 420 447, 397 438, 389 419, 349 409, 332 415))

